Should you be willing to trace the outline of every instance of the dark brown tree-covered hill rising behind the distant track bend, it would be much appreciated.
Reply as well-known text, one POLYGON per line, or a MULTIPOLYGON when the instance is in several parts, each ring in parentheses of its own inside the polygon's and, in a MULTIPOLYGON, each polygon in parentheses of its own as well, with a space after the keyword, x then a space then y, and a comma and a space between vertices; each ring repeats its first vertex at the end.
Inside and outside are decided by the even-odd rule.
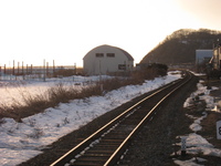
POLYGON ((221 40, 221 31, 181 29, 168 35, 140 63, 194 63, 196 50, 212 49, 218 39, 221 40))

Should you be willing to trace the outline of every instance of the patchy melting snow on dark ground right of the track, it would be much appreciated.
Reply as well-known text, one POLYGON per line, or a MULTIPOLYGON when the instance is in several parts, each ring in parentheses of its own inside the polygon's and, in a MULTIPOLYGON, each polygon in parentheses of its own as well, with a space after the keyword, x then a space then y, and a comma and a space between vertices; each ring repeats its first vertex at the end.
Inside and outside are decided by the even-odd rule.
MULTIPOLYGON (((187 98, 187 101, 183 104, 183 107, 190 106, 193 103, 192 100, 194 100, 197 96, 200 96, 200 100, 206 101, 207 110, 220 112, 217 108, 218 103, 214 103, 214 98, 209 95, 211 90, 217 90, 218 87, 212 87, 211 90, 207 90, 207 86, 203 86, 202 82, 203 81, 200 81, 197 84, 198 90, 196 92, 193 92, 190 95, 190 97, 187 98)), ((187 116, 194 120, 193 124, 190 125, 190 128, 194 133, 190 133, 189 135, 186 135, 187 153, 188 154, 202 153, 203 155, 221 157, 221 149, 214 148, 213 145, 210 144, 206 138, 203 138, 199 134, 196 134, 196 132, 198 132, 202 128, 202 126, 200 125, 200 122, 207 117, 207 113, 204 112, 201 117, 194 117, 192 115, 187 115, 187 116)), ((181 143, 178 145, 181 146, 181 143)), ((198 163, 207 162, 206 159, 199 158, 199 157, 197 157, 197 160, 198 160, 198 163)), ((175 163, 180 166, 199 166, 200 164, 197 164, 197 160, 196 160, 196 158, 192 158, 189 160, 175 159, 175 163)))

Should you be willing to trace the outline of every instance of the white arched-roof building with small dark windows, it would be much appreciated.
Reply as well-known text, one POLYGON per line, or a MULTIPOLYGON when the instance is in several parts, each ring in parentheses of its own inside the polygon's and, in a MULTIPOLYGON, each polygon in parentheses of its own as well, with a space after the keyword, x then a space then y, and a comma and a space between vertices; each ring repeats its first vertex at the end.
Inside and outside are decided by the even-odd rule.
POLYGON ((86 75, 129 72, 134 68, 133 56, 123 49, 101 45, 91 50, 83 59, 86 75))

